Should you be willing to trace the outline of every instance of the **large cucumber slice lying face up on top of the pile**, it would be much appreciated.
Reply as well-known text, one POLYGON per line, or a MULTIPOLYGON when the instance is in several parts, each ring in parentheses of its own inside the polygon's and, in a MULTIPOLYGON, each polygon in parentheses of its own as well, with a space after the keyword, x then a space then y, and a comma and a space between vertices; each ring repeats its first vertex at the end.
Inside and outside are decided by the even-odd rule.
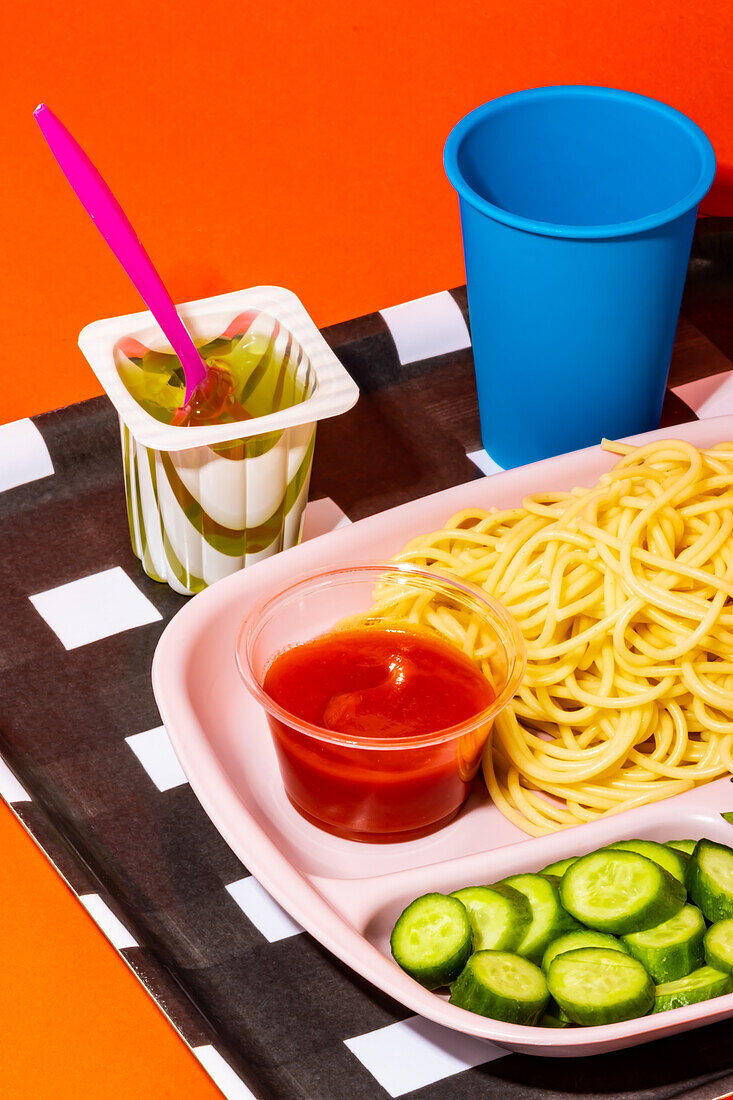
POLYGON ((681 882, 646 856, 601 848, 581 856, 565 872, 560 899, 590 928, 624 935, 668 921, 687 894, 681 882))

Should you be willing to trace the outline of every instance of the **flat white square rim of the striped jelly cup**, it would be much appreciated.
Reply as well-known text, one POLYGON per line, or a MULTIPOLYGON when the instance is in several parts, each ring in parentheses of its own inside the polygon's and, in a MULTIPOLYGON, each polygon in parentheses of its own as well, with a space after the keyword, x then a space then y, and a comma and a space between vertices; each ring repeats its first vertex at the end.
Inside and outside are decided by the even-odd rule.
POLYGON ((254 286, 233 290, 214 298, 201 298, 176 306, 194 339, 211 339, 227 328, 245 309, 258 310, 280 321, 292 332, 308 356, 316 374, 310 397, 267 416, 236 424, 196 425, 183 428, 162 424, 146 413, 132 397, 120 378, 114 349, 123 337, 139 340, 146 346, 171 351, 153 315, 127 314, 87 324, 79 333, 79 348, 119 416, 135 440, 156 451, 185 451, 192 447, 214 447, 234 439, 280 431, 296 425, 315 424, 346 413, 355 404, 359 388, 341 365, 308 316, 300 300, 280 286, 254 286))

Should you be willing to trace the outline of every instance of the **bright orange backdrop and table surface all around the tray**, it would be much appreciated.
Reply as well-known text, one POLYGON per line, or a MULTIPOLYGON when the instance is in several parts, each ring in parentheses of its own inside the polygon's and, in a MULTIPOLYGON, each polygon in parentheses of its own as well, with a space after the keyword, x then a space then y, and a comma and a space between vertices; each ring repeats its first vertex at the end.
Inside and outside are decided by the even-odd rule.
MULTIPOLYGON (((679 108, 718 153, 703 209, 733 213, 731 12, 730 0, 7 4, 0 422, 99 393, 79 330, 142 308, 36 130, 40 100, 107 177, 174 299, 281 284, 322 326, 463 282, 442 144, 468 110, 517 88, 609 84, 679 108)), ((0 1091, 218 1094, 9 813, 0 846, 0 1091)))

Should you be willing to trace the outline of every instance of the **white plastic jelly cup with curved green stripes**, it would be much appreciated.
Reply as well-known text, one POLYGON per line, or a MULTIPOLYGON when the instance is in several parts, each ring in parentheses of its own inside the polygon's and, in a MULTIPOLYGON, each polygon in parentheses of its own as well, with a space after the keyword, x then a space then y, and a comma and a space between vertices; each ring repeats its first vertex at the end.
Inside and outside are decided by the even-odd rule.
POLYGON ((316 425, 359 391, 288 290, 253 287, 177 308, 197 342, 247 326, 254 419, 173 426, 132 397, 123 378, 139 358, 171 351, 149 312, 96 321, 79 346, 120 418, 132 549, 149 576, 190 595, 297 543, 316 425))

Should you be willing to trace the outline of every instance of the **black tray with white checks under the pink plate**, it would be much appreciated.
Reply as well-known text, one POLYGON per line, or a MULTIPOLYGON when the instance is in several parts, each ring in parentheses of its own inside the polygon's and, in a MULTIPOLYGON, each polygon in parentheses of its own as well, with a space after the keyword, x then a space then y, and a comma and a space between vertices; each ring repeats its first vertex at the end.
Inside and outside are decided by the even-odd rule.
MULTIPOLYGON (((306 537, 494 469, 464 290, 325 334, 362 397, 318 429, 306 537)), ((106 398, 0 427, 0 794, 225 1096, 707 1100, 733 1084, 733 1021, 532 1058, 415 1018, 349 971, 230 851, 160 724, 151 661, 184 597, 130 549, 106 398)))

